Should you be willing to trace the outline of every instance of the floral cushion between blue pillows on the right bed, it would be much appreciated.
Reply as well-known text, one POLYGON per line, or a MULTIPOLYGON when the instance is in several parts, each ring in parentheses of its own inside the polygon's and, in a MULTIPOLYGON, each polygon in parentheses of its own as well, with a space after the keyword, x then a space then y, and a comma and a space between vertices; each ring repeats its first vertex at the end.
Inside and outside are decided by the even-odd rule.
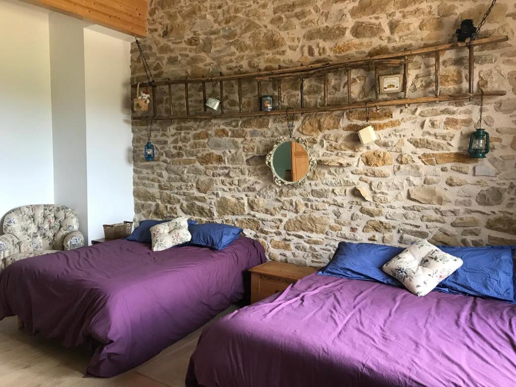
POLYGON ((460 258, 421 239, 385 263, 382 270, 404 284, 410 293, 426 296, 461 266, 460 258))

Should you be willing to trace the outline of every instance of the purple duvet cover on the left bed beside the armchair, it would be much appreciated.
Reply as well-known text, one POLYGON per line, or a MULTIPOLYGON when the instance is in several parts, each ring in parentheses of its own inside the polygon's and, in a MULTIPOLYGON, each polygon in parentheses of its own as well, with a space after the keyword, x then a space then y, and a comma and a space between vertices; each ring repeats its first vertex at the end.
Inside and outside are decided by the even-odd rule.
POLYGON ((244 296, 244 273, 265 262, 256 240, 228 248, 114 240, 30 257, 0 273, 0 319, 67 347, 98 345, 87 374, 109 377, 143 363, 244 296))

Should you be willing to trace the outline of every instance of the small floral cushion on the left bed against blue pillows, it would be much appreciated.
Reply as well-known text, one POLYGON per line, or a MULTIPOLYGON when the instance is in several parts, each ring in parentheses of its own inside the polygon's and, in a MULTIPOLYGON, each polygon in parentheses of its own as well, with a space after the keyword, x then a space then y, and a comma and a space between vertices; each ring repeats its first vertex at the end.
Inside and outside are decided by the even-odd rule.
POLYGON ((162 251, 191 239, 188 218, 182 216, 151 227, 152 251, 162 251))

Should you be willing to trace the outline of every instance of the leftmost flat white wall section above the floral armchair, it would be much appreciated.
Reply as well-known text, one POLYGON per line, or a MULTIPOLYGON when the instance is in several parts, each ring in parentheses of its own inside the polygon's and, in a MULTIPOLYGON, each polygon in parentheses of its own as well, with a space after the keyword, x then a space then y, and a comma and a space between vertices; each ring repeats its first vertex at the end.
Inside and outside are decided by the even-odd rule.
POLYGON ((2 218, 54 202, 49 11, 0 0, 0 37, 2 218))

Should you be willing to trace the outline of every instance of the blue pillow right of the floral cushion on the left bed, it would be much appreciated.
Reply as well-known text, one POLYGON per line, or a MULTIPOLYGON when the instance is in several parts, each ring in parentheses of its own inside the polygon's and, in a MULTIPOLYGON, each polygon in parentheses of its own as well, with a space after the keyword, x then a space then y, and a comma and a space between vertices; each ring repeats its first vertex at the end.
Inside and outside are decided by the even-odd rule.
POLYGON ((204 223, 191 225, 188 231, 192 236, 188 245, 223 250, 238 239, 243 230, 228 224, 204 223))

